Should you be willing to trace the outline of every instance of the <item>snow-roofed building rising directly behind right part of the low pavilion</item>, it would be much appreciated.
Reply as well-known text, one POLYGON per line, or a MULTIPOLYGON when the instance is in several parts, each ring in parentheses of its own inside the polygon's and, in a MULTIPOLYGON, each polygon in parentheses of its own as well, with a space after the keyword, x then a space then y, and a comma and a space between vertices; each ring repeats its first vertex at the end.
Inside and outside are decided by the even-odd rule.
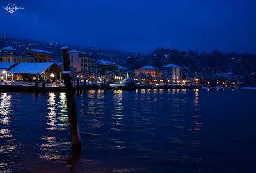
POLYGON ((34 57, 33 62, 35 63, 51 62, 52 53, 46 50, 29 48, 28 50, 25 51, 25 54, 28 54, 34 57))

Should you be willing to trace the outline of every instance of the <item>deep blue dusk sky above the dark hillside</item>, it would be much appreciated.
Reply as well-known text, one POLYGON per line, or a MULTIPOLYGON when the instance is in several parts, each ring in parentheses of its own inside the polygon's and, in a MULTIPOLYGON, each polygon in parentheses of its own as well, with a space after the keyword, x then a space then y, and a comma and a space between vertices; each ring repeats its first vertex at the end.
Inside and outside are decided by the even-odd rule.
POLYGON ((119 50, 256 52, 256 1, 0 1, 0 33, 119 50), (9 3, 25 10, 8 13, 9 3))

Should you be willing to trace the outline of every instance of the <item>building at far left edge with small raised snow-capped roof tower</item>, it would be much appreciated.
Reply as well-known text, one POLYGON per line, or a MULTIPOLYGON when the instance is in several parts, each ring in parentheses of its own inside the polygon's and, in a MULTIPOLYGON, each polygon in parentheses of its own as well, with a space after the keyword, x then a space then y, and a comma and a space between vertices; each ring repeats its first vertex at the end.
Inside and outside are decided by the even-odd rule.
POLYGON ((18 52, 12 46, 4 47, 1 50, 0 61, 5 63, 22 63, 22 62, 33 62, 33 56, 18 52))

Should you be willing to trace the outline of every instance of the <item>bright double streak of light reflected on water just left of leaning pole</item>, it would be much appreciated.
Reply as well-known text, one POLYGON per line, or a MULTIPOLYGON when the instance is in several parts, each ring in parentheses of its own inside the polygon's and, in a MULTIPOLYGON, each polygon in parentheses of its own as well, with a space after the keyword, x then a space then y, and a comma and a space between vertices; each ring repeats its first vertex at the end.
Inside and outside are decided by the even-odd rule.
POLYGON ((67 137, 63 136, 65 133, 60 133, 68 128, 65 93, 60 93, 58 97, 56 93, 49 93, 47 105, 46 129, 49 133, 41 137, 44 141, 40 147, 42 151, 41 158, 46 160, 65 160, 68 155, 65 155, 63 151, 69 151, 68 146, 70 145, 67 137))

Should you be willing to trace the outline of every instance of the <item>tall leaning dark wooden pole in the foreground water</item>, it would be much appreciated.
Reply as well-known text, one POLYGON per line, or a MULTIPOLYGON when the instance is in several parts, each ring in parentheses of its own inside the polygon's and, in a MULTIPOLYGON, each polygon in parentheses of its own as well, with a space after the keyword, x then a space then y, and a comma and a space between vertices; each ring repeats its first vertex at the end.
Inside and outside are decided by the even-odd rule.
POLYGON ((68 47, 62 47, 62 57, 63 57, 63 79, 66 91, 66 100, 68 107, 68 118, 69 126, 72 140, 72 153, 79 154, 81 151, 81 137, 79 133, 79 127, 77 123, 77 112, 76 112, 76 100, 74 97, 74 89, 71 82, 71 71, 70 71, 70 61, 68 47))

